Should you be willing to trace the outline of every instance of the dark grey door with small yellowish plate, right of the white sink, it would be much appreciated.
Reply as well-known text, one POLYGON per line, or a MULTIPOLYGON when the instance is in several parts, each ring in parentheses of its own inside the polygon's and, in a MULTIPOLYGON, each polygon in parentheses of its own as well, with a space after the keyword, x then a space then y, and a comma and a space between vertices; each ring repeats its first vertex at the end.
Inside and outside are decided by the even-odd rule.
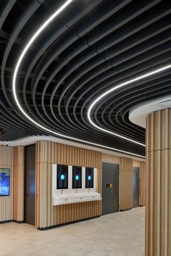
POLYGON ((102 214, 119 211, 120 165, 102 163, 102 214))

